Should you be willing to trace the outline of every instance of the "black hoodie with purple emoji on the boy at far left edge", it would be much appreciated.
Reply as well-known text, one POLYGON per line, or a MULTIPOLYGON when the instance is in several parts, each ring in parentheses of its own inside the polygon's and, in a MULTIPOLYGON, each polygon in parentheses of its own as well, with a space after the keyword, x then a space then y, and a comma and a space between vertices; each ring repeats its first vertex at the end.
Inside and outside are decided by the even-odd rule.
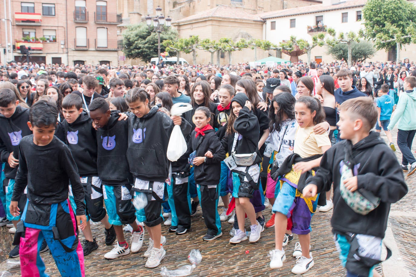
MULTIPOLYGON (((15 113, 10 118, 0 115, 0 157, 5 163, 4 174, 7 178, 15 179, 17 167, 11 168, 7 160, 13 152, 15 159, 19 159, 19 143, 22 137, 32 134, 27 126, 29 109, 17 105, 15 113)), ((0 184, 1 185, 1 184, 0 184)))

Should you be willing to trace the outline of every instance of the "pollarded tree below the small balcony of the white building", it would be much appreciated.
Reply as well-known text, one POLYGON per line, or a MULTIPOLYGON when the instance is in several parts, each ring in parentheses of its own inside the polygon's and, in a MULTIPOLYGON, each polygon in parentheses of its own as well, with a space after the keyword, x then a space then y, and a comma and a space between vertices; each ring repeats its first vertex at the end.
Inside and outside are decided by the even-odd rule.
POLYGON ((298 61, 298 56, 307 54, 307 62, 311 62, 311 50, 317 46, 324 46, 325 34, 320 33, 312 36, 312 43, 309 43, 306 39, 298 39, 295 36, 290 36, 290 39, 280 43, 282 51, 285 54, 290 55, 290 61, 298 61))

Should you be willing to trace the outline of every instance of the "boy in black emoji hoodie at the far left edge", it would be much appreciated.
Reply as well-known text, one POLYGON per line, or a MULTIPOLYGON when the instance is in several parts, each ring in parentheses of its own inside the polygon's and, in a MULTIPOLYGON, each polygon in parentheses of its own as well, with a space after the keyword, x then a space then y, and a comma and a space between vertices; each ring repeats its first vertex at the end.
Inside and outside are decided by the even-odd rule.
MULTIPOLYGON (((20 216, 12 216, 9 211, 17 168, 19 167, 19 143, 22 137, 32 134, 27 127, 29 121, 29 109, 22 108, 15 93, 9 88, 0 89, 0 157, 1 162, 5 163, 5 179, 1 186, 6 193, 6 213, 7 219, 12 221, 16 227, 20 216)), ((22 194, 19 201, 20 210, 24 210, 26 194, 22 194)), ((19 257, 19 235, 16 235, 15 249, 10 252, 10 257, 19 257)))

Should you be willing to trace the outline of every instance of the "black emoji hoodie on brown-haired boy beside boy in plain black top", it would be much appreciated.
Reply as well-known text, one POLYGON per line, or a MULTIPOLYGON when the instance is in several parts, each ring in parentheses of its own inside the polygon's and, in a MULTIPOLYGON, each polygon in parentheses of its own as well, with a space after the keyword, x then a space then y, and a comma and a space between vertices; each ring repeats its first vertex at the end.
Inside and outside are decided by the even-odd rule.
POLYGON ((73 123, 62 122, 66 144, 72 152, 78 167, 79 176, 98 176, 97 171, 97 137, 92 127, 92 119, 86 111, 73 123))

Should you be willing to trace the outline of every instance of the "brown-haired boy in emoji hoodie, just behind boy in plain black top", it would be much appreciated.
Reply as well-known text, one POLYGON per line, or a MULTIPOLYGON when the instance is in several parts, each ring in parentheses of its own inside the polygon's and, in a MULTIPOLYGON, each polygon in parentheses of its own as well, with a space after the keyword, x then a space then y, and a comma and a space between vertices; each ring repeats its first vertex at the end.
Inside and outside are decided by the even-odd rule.
MULTIPOLYGON (((97 171, 97 137, 92 127, 92 120, 82 108, 82 99, 76 94, 69 94, 62 101, 62 111, 65 120, 62 122, 66 144, 72 152, 78 167, 81 183, 84 186, 87 216, 94 222, 104 224, 106 245, 111 245, 116 239, 114 227, 108 221, 108 215, 103 207, 103 190, 97 171)), ((69 199, 74 206, 71 189, 69 199)), ((97 250, 98 244, 92 237, 89 219, 87 217, 84 233, 84 256, 97 250)))

